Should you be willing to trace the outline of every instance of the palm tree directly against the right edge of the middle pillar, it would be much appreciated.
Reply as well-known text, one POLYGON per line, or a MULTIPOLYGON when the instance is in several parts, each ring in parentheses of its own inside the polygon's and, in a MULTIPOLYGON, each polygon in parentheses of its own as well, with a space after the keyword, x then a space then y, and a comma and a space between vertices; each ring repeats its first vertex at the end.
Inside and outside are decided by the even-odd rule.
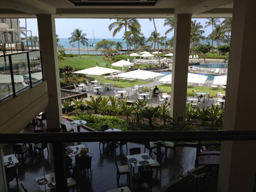
POLYGON ((203 30, 203 26, 200 22, 196 22, 196 20, 191 21, 191 32, 190 32, 190 42, 191 47, 195 47, 196 42, 199 42, 200 38, 202 38, 202 34, 205 33, 203 30))

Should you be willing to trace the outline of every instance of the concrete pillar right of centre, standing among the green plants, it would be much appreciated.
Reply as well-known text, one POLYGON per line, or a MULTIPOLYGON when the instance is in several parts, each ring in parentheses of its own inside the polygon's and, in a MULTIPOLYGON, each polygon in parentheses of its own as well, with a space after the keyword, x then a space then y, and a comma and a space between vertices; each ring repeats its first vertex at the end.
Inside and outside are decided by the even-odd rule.
POLYGON ((172 60, 171 115, 185 120, 187 100, 188 56, 190 52, 191 14, 176 14, 172 60))

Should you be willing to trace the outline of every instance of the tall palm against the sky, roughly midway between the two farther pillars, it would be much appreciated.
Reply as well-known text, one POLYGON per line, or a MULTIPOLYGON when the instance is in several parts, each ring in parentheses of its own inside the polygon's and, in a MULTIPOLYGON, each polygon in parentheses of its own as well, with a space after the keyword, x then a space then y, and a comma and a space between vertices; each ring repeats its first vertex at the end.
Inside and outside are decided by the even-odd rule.
POLYGON ((116 21, 114 23, 111 23, 108 26, 109 31, 111 31, 112 29, 114 29, 113 31, 113 37, 117 34, 117 32, 120 32, 121 29, 124 28, 124 37, 126 39, 126 45, 127 45, 127 54, 128 57, 129 56, 129 45, 128 45, 128 34, 127 34, 127 29, 129 29, 132 32, 135 32, 135 30, 140 30, 141 29, 141 25, 139 24, 137 19, 116 19, 116 21), (114 29, 115 28, 115 29, 114 29))

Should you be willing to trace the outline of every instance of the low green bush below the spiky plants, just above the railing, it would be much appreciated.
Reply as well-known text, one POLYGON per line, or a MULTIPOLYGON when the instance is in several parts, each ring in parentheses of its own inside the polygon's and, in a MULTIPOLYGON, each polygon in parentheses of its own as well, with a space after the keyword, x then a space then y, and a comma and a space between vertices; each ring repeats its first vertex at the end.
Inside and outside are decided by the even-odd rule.
POLYGON ((105 124, 108 125, 109 129, 114 128, 123 131, 129 129, 129 124, 127 123, 127 121, 122 120, 118 117, 112 117, 108 115, 103 117, 96 117, 94 115, 85 114, 80 116, 74 116, 72 118, 74 118, 75 120, 85 120, 87 121, 86 126, 92 127, 93 129, 99 131, 101 130, 101 127, 105 124))

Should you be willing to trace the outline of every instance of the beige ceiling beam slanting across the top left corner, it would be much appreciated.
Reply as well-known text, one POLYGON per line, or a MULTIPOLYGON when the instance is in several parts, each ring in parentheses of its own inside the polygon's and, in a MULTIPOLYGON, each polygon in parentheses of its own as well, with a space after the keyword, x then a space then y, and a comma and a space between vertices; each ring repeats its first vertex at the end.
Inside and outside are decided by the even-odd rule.
POLYGON ((21 11, 28 14, 55 14, 56 8, 38 0, 8 0, 0 1, 0 7, 21 11))

